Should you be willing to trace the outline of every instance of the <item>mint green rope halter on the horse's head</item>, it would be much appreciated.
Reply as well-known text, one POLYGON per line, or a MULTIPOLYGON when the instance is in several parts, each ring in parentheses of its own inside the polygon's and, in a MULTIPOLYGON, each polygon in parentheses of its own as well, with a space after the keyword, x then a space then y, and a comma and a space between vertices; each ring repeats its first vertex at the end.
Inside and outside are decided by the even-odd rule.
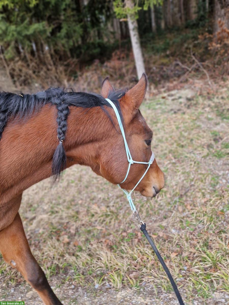
POLYGON ((136 183, 135 187, 128 193, 127 190, 125 190, 124 188, 121 188, 120 184, 118 184, 118 186, 121 188, 121 190, 125 193, 128 201, 129 201, 129 205, 130 205, 130 208, 133 212, 136 212, 136 207, 135 205, 133 204, 133 200, 131 198, 131 195, 132 195, 132 192, 135 190, 135 188, 139 185, 139 183, 142 181, 142 179, 145 177, 148 169, 150 168, 151 164, 154 162, 154 153, 152 152, 152 155, 150 157, 150 160, 149 162, 140 162, 140 161, 134 161, 131 157, 131 154, 130 154, 130 151, 129 151, 129 147, 128 147, 128 144, 126 142, 126 138, 125 138, 125 132, 124 132, 124 128, 123 128, 123 125, 122 125, 122 120, 120 118, 120 115, 118 113, 118 109, 116 108, 115 104, 113 102, 111 102, 110 99, 106 99, 107 102, 111 105, 111 107, 114 109, 115 111, 115 114, 116 114, 116 117, 117 117, 117 120, 118 120, 118 124, 119 124, 119 127, 120 127, 120 130, 121 130, 121 133, 122 133, 122 137, 123 137, 123 140, 124 140, 124 144, 125 144, 125 151, 126 151, 126 156, 127 156, 127 160, 129 162, 129 166, 128 166, 128 169, 127 169, 127 173, 125 175, 125 178, 121 183, 123 183, 126 178, 128 177, 128 174, 129 174, 129 170, 130 170, 130 166, 131 164, 133 163, 140 163, 140 164, 148 164, 148 167, 146 169, 146 171, 144 172, 144 174, 142 175, 142 177, 139 179, 139 181, 136 183))

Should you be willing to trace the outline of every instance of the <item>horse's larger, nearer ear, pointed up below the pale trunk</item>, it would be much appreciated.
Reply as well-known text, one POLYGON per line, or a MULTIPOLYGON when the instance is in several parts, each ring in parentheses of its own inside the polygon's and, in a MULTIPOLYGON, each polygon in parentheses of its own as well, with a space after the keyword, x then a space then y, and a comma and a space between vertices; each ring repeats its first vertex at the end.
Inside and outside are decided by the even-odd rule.
POLYGON ((147 76, 145 73, 143 73, 139 82, 129 91, 127 91, 123 98, 120 100, 120 105, 126 114, 126 117, 128 117, 127 121, 132 119, 136 113, 136 110, 143 102, 146 94, 147 82, 147 76))

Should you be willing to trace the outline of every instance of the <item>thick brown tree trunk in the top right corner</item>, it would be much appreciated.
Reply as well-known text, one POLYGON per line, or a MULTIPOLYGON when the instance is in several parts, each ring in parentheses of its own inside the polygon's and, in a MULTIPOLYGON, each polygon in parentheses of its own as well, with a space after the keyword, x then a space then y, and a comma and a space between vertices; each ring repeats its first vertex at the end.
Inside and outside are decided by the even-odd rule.
POLYGON ((223 21, 225 27, 229 29, 229 0, 215 0, 214 4, 214 33, 219 30, 219 21, 223 21))

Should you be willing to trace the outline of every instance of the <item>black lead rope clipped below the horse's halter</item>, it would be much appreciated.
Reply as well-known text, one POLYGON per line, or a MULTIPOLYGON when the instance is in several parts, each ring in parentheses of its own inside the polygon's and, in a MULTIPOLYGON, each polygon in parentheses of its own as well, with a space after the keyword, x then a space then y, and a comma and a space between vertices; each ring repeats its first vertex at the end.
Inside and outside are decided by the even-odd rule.
POLYGON ((173 290, 176 294, 179 304, 184 305, 184 302, 183 302, 180 292, 176 286, 176 283, 174 282, 172 274, 169 272, 169 269, 165 265, 165 262, 164 262, 163 258, 161 257, 161 254, 158 252, 157 247, 154 245, 154 242, 152 241, 151 237, 149 236, 148 232, 146 231, 146 224, 143 223, 141 225, 141 231, 144 233, 145 237, 147 238, 148 242, 150 243, 151 247, 153 248, 154 252, 156 253, 158 260, 160 261, 160 263, 162 264, 162 267, 164 268, 166 274, 168 275, 169 281, 170 281, 171 285, 173 286, 173 290))

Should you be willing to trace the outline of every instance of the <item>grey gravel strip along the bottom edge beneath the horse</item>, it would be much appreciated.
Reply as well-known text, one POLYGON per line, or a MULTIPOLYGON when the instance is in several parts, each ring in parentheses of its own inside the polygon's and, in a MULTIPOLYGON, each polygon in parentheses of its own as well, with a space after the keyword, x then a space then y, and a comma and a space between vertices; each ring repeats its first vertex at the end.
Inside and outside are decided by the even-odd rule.
MULTIPOLYGON (((59 282, 59 278, 54 278, 51 285, 59 282)), ((27 284, 16 286, 13 284, 5 285, 1 282, 0 278, 0 296, 1 301, 19 301, 25 302, 25 305, 44 305, 39 299, 37 293, 31 289, 27 284)), ((56 295, 60 298, 64 305, 78 304, 78 305, 178 305, 178 301, 173 292, 161 292, 155 295, 152 285, 145 285, 138 290, 122 289, 117 291, 112 289, 111 286, 92 288, 90 290, 82 289, 81 287, 74 287, 71 283, 66 283, 60 288, 52 286, 56 295)), ((229 304, 229 295, 224 292, 215 292, 213 298, 208 299, 206 302, 199 297, 195 297, 191 301, 185 301, 187 295, 184 291, 180 290, 186 305, 226 305, 229 304)), ((189 298, 188 298, 189 299, 189 298)))

